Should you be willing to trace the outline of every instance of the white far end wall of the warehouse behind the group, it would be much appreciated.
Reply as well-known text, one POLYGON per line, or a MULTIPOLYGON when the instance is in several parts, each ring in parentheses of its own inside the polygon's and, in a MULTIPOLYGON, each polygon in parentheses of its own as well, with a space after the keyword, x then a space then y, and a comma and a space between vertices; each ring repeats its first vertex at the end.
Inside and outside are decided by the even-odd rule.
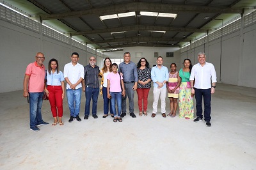
MULTIPOLYGON (((131 53, 131 61, 134 63, 138 63, 140 58, 136 58, 136 52, 142 52, 143 58, 146 58, 150 66, 156 65, 156 59, 154 58, 154 52, 158 52, 158 56, 162 56, 164 59, 164 66, 170 68, 170 64, 176 63, 180 65, 180 52, 179 48, 167 48, 167 47, 126 47, 124 51, 117 52, 104 52, 104 55, 108 58, 124 58, 124 52, 131 53), (174 52, 173 58, 166 58, 166 52, 174 52)), ((170 70, 170 69, 169 69, 170 70)))

